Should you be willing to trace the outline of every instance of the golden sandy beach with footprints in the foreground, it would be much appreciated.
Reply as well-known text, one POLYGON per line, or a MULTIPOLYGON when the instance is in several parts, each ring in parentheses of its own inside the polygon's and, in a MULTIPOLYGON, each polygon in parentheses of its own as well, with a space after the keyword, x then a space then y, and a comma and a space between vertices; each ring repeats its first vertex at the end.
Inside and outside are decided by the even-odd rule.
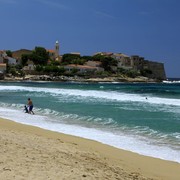
POLYGON ((0 179, 180 180, 180 164, 0 119, 0 179))

